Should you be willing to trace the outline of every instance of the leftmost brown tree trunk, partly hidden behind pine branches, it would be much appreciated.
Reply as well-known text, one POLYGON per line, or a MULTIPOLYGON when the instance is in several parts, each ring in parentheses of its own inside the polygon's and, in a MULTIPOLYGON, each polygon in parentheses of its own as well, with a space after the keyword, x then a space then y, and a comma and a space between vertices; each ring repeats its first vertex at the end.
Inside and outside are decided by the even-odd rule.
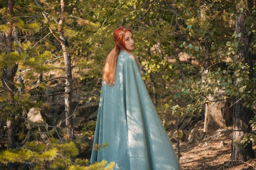
MULTIPOLYGON (((7 25, 10 27, 9 31, 6 32, 6 44, 7 44, 7 54, 10 55, 12 52, 12 31, 13 31, 13 24, 12 24, 12 14, 13 14, 13 6, 14 1, 8 0, 8 19, 7 19, 7 25)), ((11 57, 11 56, 9 56, 11 57)), ((5 69, 3 69, 3 77, 1 77, 5 91, 10 96, 9 98, 9 104, 14 104, 14 94, 13 94, 13 79, 15 77, 15 74, 17 72, 17 64, 9 64, 5 69)), ((7 127, 7 147, 10 149, 15 148, 15 117, 14 115, 9 115, 6 121, 6 127, 7 127)), ((17 170, 17 166, 15 163, 8 162, 7 164, 8 170, 17 170)))

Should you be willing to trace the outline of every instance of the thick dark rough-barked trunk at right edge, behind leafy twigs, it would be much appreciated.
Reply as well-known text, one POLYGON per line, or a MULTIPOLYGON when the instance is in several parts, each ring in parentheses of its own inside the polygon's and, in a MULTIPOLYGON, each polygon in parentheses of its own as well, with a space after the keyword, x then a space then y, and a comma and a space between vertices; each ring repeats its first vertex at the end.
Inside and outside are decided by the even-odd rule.
MULTIPOLYGON (((253 58, 252 51, 250 51, 250 45, 252 42, 253 34, 248 34, 248 17, 252 17, 252 7, 253 0, 239 0, 236 8, 238 14, 236 15, 236 33, 241 36, 238 41, 243 45, 240 46, 238 55, 234 57, 237 62, 245 63, 249 68, 249 79, 253 78, 253 58)), ((239 80, 234 81, 238 88, 242 88, 239 80)), ((247 90, 249 91, 249 90, 247 90)), ((244 137, 251 131, 250 120, 253 119, 252 108, 246 107, 244 105, 246 101, 243 98, 236 99, 233 106, 233 136, 232 136, 232 150, 231 150, 231 160, 237 161, 247 161, 248 158, 254 158, 254 151, 252 147, 252 142, 244 143, 244 137), (244 143, 241 145, 239 143, 244 143)))

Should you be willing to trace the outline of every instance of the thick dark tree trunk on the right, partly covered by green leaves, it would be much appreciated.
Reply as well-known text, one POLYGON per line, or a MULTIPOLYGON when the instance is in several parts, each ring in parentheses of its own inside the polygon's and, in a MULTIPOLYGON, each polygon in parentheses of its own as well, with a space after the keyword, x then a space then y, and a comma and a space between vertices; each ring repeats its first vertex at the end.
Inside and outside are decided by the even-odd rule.
MULTIPOLYGON (((247 16, 250 16, 250 11, 253 6, 253 0, 240 0, 236 8, 239 10, 246 5, 248 10, 245 11, 247 16)), ((246 28, 244 26, 246 16, 244 13, 240 13, 236 17, 236 33, 241 33, 239 41, 243 42, 244 46, 239 51, 239 59, 241 62, 246 62, 250 66, 253 66, 252 54, 249 52, 250 42, 252 40, 252 34, 247 35, 246 28)), ((251 78, 252 75, 249 75, 251 78)), ((236 84, 240 86, 239 83, 236 84)), ((232 137, 232 148, 231 148, 231 160, 247 161, 249 157, 254 158, 254 152, 252 143, 249 143, 246 147, 235 145, 234 140, 238 139, 241 141, 244 136, 250 132, 251 127, 249 121, 253 118, 253 112, 243 106, 242 100, 235 101, 233 106, 233 130, 244 130, 244 131, 233 131, 232 137)))

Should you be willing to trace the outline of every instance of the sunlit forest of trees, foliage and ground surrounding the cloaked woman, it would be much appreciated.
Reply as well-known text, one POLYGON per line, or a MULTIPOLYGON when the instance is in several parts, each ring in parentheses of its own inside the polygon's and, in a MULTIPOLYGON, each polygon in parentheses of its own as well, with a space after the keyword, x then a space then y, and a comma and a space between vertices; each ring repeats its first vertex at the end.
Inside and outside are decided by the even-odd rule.
POLYGON ((120 26, 182 169, 256 170, 256 0, 0 0, 0 169, 115 169, 90 155, 120 26))

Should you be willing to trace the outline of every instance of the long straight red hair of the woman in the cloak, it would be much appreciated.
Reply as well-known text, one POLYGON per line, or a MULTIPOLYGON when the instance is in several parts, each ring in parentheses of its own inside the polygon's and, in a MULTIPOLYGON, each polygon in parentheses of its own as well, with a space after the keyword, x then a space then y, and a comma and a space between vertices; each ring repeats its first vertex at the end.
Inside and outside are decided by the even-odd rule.
POLYGON ((125 32, 126 31, 131 32, 131 29, 130 28, 126 29, 124 31, 124 33, 121 34, 121 36, 119 37, 119 33, 121 33, 121 31, 123 31, 123 28, 125 28, 125 27, 116 28, 116 30, 114 31, 113 39, 116 42, 116 44, 115 44, 115 47, 112 49, 112 51, 108 54, 105 66, 103 68, 104 81, 107 85, 111 85, 111 86, 114 85, 114 82, 116 79, 116 76, 115 76, 116 75, 116 61, 117 61, 117 57, 121 50, 126 51, 129 54, 131 54, 134 57, 137 65, 138 65, 138 68, 140 69, 140 62, 139 62, 138 58, 135 57, 134 54, 131 53, 131 51, 129 51, 128 49, 125 48, 125 32))

